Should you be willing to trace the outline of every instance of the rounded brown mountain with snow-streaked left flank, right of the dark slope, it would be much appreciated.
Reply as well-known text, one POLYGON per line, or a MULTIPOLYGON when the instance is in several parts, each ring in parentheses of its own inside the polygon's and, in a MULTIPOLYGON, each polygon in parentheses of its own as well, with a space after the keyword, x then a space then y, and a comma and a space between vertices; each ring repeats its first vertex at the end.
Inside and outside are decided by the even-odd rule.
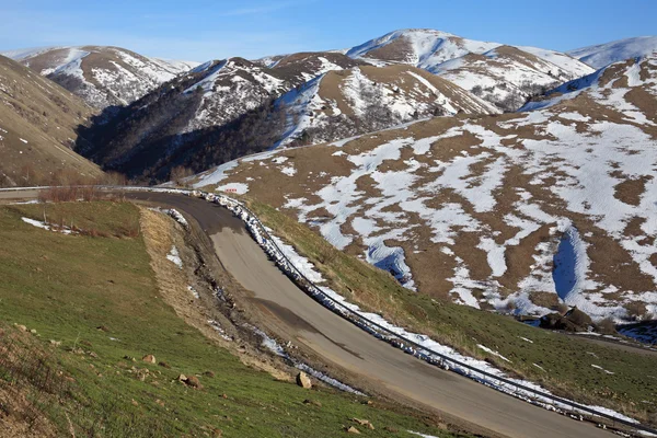
POLYGON ((276 105, 287 125, 275 146, 331 141, 434 116, 499 113, 460 87, 404 65, 333 70, 276 105))

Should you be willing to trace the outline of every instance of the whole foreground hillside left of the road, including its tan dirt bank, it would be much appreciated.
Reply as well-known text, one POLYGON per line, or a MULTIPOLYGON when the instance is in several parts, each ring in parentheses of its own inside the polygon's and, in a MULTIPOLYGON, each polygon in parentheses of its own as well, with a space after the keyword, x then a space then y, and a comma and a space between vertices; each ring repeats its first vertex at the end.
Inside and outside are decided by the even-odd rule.
POLYGON ((49 204, 54 221, 95 232, 67 235, 25 221, 43 220, 43 208, 0 207, 0 436, 367 434, 354 417, 400 437, 466 436, 316 380, 295 384, 298 371, 260 345, 272 339, 232 325, 209 285, 194 283, 192 295, 197 254, 166 216, 128 203, 49 204), (166 257, 172 245, 181 268, 166 257))

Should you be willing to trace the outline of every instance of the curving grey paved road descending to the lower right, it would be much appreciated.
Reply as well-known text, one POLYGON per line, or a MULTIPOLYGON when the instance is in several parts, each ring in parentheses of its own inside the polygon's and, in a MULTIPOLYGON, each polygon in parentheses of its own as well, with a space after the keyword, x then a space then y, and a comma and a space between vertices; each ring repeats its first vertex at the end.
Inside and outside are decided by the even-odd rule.
POLYGON ((253 304, 270 315, 266 328, 295 338, 297 344, 356 376, 374 380, 415 403, 492 430, 493 435, 614 436, 429 366, 374 339, 297 288, 251 239, 242 221, 217 205, 169 194, 130 193, 128 197, 170 205, 196 219, 212 240, 221 263, 252 291, 253 304))

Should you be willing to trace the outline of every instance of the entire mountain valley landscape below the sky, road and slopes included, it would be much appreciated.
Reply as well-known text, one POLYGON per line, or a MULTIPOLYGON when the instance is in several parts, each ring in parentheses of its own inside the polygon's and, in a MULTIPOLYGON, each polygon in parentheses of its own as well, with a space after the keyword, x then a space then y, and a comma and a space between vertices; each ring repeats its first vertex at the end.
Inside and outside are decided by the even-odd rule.
POLYGON ((0 50, 0 436, 657 434, 657 37, 364 39, 0 50))

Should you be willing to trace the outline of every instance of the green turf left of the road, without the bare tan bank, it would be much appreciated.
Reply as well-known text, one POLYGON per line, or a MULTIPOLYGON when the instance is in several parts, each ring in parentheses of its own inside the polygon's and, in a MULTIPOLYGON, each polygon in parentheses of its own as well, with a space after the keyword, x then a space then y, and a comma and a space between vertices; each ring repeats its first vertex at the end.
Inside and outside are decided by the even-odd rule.
MULTIPOLYGON (((138 219, 129 204, 49 205, 48 211, 80 228, 95 223, 111 235, 124 234, 124 224, 138 219)), ((328 437, 341 436, 343 425, 359 417, 377 427, 358 427, 364 436, 408 436, 406 429, 450 436, 420 418, 333 390, 309 392, 246 368, 158 297, 140 237, 67 237, 26 224, 22 216, 43 218, 43 206, 0 208, 0 325, 36 328, 37 343, 53 350, 51 362, 74 379, 70 396, 49 414, 60 430, 68 429, 68 415, 79 436, 210 436, 220 428, 224 437, 328 437), (108 331, 97 330, 101 325, 108 331), (48 339, 62 345, 51 347, 48 339), (146 354, 171 368, 124 359, 146 354), (132 366, 150 370, 145 381, 132 366), (204 371, 215 377, 200 376, 204 371), (174 381, 180 373, 199 374, 205 388, 174 381), (307 397, 322 406, 303 404, 307 397)))

